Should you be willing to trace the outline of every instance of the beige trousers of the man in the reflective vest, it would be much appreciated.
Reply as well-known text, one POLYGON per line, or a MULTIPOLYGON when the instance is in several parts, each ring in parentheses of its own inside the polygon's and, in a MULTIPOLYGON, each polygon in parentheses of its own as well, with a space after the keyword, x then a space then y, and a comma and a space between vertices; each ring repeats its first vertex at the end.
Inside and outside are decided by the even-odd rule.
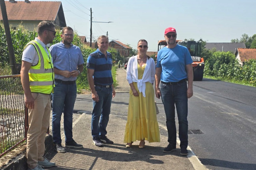
POLYGON ((44 140, 49 126, 51 114, 51 97, 41 93, 32 93, 34 108, 28 109, 27 133, 27 164, 28 168, 37 166, 38 161, 43 161, 44 140))

